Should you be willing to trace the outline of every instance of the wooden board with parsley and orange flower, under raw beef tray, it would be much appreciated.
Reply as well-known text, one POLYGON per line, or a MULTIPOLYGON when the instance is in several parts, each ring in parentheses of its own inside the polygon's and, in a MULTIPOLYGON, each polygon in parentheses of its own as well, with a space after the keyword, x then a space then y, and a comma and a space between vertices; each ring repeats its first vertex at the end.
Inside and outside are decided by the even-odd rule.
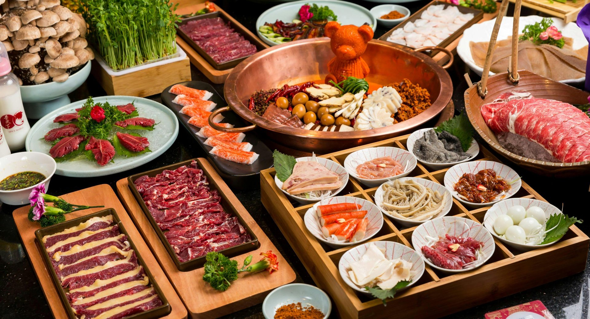
POLYGON ((254 261, 258 261, 261 252, 273 250, 278 257, 278 271, 273 274, 268 272, 259 272, 257 274, 241 274, 237 281, 231 284, 231 287, 224 292, 219 292, 209 284, 203 281, 203 268, 193 271, 182 272, 176 268, 171 256, 166 250, 160 238, 150 224, 143 210, 135 200, 133 193, 129 189, 127 178, 117 181, 117 193, 123 200, 124 206, 130 211, 130 216, 139 228, 145 240, 149 243, 152 252, 158 258, 160 265, 168 275, 168 278, 176 288, 182 301, 188 308, 189 315, 192 318, 218 318, 222 315, 234 313, 235 311, 259 304, 272 289, 293 282, 296 278, 295 272, 289 266, 289 263, 278 252, 277 248, 270 242, 270 239, 260 229, 260 226, 254 221, 248 211, 242 206, 234 193, 219 177, 215 169, 209 164, 207 159, 199 158, 199 166, 202 170, 209 172, 211 177, 217 182, 218 191, 228 197, 228 201, 240 212, 244 222, 250 226, 250 229, 258 237, 260 248, 243 255, 235 256, 238 265, 249 256, 254 256, 254 261))

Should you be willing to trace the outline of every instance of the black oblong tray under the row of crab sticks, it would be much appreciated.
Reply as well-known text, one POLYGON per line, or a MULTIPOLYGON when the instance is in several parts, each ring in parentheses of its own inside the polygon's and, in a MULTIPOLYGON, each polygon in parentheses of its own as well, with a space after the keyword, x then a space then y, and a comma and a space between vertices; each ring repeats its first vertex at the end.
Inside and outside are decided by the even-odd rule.
MULTIPOLYGON (((200 81, 189 81, 189 82, 181 82, 177 84, 182 84, 184 86, 192 87, 193 89, 198 90, 207 90, 213 93, 213 96, 209 100, 217 103, 215 109, 223 108, 227 106, 225 100, 209 83, 200 82, 200 81)), ((251 187, 253 183, 258 183, 260 178, 258 178, 260 171, 266 170, 267 168, 273 167, 274 159, 273 159, 273 152, 264 144, 258 137, 254 134, 254 132, 247 132, 245 133, 246 137, 244 138, 244 142, 249 142, 252 144, 253 152, 258 154, 258 159, 250 165, 247 164, 240 164, 232 161, 228 161, 227 159, 223 159, 221 157, 217 157, 217 155, 210 154, 212 147, 205 145, 205 139, 201 136, 196 135, 196 132, 199 131, 199 128, 188 123, 188 120, 191 118, 188 115, 182 114, 179 112, 182 109, 181 105, 176 103, 172 103, 172 100, 176 97, 172 93, 168 92, 172 86, 166 87, 166 89, 162 92, 162 103, 168 106, 168 108, 172 109, 176 116, 178 117, 178 121, 182 123, 182 125, 186 128, 189 133, 191 133, 192 137, 198 142, 201 146, 203 151, 207 153, 207 157, 211 159, 215 170, 219 172, 219 175, 224 178, 224 180, 237 188, 244 187, 251 187), (250 178, 247 178, 250 177, 250 178), (246 179, 246 180, 244 180, 246 179), (246 183, 248 182, 248 183, 246 183)), ((222 115, 225 119, 222 122, 230 123, 235 125, 236 127, 244 126, 244 121, 240 118, 240 116, 236 115, 234 112, 224 112, 222 115)))

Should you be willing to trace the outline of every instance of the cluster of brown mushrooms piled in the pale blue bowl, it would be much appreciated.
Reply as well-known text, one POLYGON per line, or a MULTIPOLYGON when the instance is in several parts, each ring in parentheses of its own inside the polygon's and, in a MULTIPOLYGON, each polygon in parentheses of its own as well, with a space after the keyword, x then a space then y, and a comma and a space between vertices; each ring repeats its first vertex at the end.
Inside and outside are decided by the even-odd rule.
POLYGON ((21 84, 64 82, 94 58, 86 21, 60 0, 0 0, 0 41, 21 84))

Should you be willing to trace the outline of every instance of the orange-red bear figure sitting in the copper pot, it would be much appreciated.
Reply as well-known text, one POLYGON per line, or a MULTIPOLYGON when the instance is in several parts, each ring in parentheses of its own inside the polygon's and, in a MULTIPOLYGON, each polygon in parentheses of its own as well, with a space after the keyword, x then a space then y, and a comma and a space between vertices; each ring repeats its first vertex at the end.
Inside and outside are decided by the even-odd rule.
POLYGON ((367 43, 373 38, 373 29, 368 25, 340 25, 330 21, 324 28, 324 35, 329 37, 330 47, 336 57, 328 62, 328 71, 324 83, 330 80, 338 83, 349 76, 363 79, 369 74, 369 66, 360 57, 367 48, 367 43))

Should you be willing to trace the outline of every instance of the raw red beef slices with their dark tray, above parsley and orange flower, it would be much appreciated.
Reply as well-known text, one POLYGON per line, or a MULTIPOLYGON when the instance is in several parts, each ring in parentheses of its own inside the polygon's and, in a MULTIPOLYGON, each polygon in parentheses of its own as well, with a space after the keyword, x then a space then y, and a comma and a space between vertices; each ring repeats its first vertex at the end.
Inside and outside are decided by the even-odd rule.
POLYGON ((248 224, 218 191, 217 182, 195 159, 135 174, 127 181, 179 271, 202 266, 207 252, 233 257, 260 246, 248 224), (159 196, 163 193, 168 198, 159 196), (210 225, 214 228, 204 229, 210 225))

